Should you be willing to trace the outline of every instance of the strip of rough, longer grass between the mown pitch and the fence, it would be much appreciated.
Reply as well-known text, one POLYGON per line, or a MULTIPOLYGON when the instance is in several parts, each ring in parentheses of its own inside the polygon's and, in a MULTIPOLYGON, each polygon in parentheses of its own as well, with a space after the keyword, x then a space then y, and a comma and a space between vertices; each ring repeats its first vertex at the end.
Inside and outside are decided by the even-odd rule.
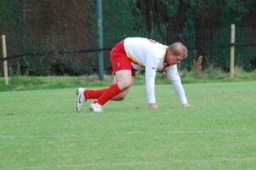
MULTIPOLYGON (((220 70, 213 71, 180 71, 183 84, 187 83, 205 83, 205 82, 244 82, 256 81, 256 71, 245 72, 236 69, 235 78, 230 78, 229 73, 220 70), (221 79, 218 77, 222 77, 221 79)), ((168 78, 163 78, 160 72, 156 75, 156 84, 170 84, 168 78)), ((134 85, 143 85, 145 77, 137 72, 134 85)), ((5 85, 4 78, 0 77, 0 92, 6 91, 24 91, 37 89, 55 89, 55 88, 77 88, 84 87, 108 87, 113 83, 113 76, 104 76, 104 81, 99 81, 97 75, 84 77, 9 77, 9 85, 5 85)))

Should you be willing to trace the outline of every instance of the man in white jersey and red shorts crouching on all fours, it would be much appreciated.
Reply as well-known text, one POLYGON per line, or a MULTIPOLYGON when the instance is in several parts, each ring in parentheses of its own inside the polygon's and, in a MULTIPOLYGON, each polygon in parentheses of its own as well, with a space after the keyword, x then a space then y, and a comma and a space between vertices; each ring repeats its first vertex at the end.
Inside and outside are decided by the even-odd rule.
POLYGON ((109 88, 77 90, 77 111, 87 99, 95 99, 90 104, 90 111, 102 111, 102 105, 108 100, 123 100, 129 92, 136 71, 145 70, 145 84, 148 95, 148 108, 157 109, 154 97, 154 78, 157 70, 166 70, 183 107, 190 107, 177 72, 177 64, 188 55, 187 48, 181 42, 169 47, 152 39, 127 37, 116 44, 110 52, 114 73, 114 83, 109 88))

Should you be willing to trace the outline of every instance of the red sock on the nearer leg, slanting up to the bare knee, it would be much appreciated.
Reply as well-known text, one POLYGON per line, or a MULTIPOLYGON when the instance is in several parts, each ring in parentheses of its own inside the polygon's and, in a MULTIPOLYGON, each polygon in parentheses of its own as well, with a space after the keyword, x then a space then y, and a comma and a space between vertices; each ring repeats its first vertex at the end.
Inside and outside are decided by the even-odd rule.
POLYGON ((117 95, 121 92, 122 91, 119 88, 119 85, 117 83, 115 83, 112 86, 110 86, 110 88, 108 88, 108 90, 104 94, 102 94, 101 97, 96 99, 96 102, 101 105, 104 105, 108 102, 108 100, 112 99, 115 95, 117 95))

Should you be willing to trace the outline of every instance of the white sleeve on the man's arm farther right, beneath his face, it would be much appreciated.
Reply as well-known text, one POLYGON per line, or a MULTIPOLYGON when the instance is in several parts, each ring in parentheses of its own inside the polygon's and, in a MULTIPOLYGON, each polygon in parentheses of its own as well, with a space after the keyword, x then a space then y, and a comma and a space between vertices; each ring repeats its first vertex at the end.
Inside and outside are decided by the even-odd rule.
POLYGON ((183 104, 188 103, 183 85, 181 83, 181 79, 177 72, 177 65, 172 65, 172 66, 167 67, 166 73, 167 73, 170 81, 172 82, 172 87, 174 88, 181 104, 183 105, 183 104))

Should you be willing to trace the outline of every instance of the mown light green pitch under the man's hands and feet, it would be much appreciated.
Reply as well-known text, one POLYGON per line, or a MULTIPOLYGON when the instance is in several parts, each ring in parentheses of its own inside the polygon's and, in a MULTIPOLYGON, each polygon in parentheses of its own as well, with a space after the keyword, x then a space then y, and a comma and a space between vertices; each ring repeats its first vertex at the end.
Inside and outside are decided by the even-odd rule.
POLYGON ((133 86, 104 112, 75 111, 76 88, 0 93, 3 169, 255 169, 256 82, 133 86), (170 89, 169 89, 170 88, 170 89))

